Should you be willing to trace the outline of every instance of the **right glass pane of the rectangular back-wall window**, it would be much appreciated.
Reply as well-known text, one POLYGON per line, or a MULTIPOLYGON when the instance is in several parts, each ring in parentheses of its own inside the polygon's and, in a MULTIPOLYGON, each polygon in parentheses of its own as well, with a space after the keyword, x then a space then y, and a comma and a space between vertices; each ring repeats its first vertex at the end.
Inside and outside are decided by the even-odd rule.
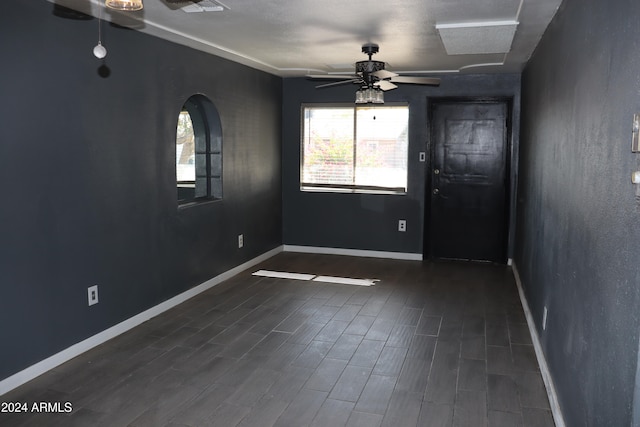
POLYGON ((407 107, 356 110, 356 185, 407 187, 407 107))

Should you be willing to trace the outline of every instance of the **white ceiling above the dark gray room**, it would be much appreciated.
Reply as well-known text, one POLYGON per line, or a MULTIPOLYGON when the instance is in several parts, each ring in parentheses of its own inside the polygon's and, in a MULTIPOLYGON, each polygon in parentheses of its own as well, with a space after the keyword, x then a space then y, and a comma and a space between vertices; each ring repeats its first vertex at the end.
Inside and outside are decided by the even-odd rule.
POLYGON ((144 0, 139 12, 111 11, 102 0, 48 1, 283 77, 352 73, 366 59, 364 43, 377 43, 374 59, 405 74, 520 72, 562 2, 215 0, 223 11, 185 13, 180 8, 189 3, 179 0, 144 0), (496 37, 503 46, 507 38, 507 49, 513 41, 506 53, 449 55, 436 26, 447 33, 460 27, 451 39, 455 52, 494 52, 496 37))

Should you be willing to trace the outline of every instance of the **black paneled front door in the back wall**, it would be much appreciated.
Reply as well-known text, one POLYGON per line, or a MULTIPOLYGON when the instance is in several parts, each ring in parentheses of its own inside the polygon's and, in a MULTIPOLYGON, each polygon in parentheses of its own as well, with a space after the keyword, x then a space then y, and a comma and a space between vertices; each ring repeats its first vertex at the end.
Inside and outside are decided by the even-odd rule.
POLYGON ((430 256, 504 263, 508 105, 431 104, 430 256))

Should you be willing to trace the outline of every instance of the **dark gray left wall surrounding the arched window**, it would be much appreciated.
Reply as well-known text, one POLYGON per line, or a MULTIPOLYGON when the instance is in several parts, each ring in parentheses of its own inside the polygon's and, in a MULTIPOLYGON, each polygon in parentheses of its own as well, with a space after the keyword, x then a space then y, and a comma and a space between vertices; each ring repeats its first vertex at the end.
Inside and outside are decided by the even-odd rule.
POLYGON ((105 24, 101 77, 98 22, 52 8, 0 14, 0 379, 281 244, 282 80, 105 24), (195 93, 220 113, 224 199, 178 210, 195 93))

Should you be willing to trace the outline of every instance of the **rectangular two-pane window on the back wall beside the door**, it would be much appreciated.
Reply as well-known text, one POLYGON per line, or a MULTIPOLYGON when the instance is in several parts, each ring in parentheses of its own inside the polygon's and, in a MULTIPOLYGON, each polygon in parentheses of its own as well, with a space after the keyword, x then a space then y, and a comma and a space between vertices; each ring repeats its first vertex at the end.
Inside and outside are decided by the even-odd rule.
POLYGON ((302 190, 407 191, 407 105, 306 105, 302 116, 302 190))

